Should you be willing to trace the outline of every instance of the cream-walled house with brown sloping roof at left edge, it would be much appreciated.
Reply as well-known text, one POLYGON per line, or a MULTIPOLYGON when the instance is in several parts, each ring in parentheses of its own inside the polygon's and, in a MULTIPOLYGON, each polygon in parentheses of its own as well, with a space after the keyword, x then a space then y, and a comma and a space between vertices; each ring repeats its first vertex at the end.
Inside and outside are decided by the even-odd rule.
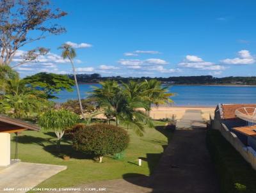
POLYGON ((40 128, 31 123, 0 114, 0 166, 10 165, 10 134, 17 134, 24 130, 39 131, 40 128))

